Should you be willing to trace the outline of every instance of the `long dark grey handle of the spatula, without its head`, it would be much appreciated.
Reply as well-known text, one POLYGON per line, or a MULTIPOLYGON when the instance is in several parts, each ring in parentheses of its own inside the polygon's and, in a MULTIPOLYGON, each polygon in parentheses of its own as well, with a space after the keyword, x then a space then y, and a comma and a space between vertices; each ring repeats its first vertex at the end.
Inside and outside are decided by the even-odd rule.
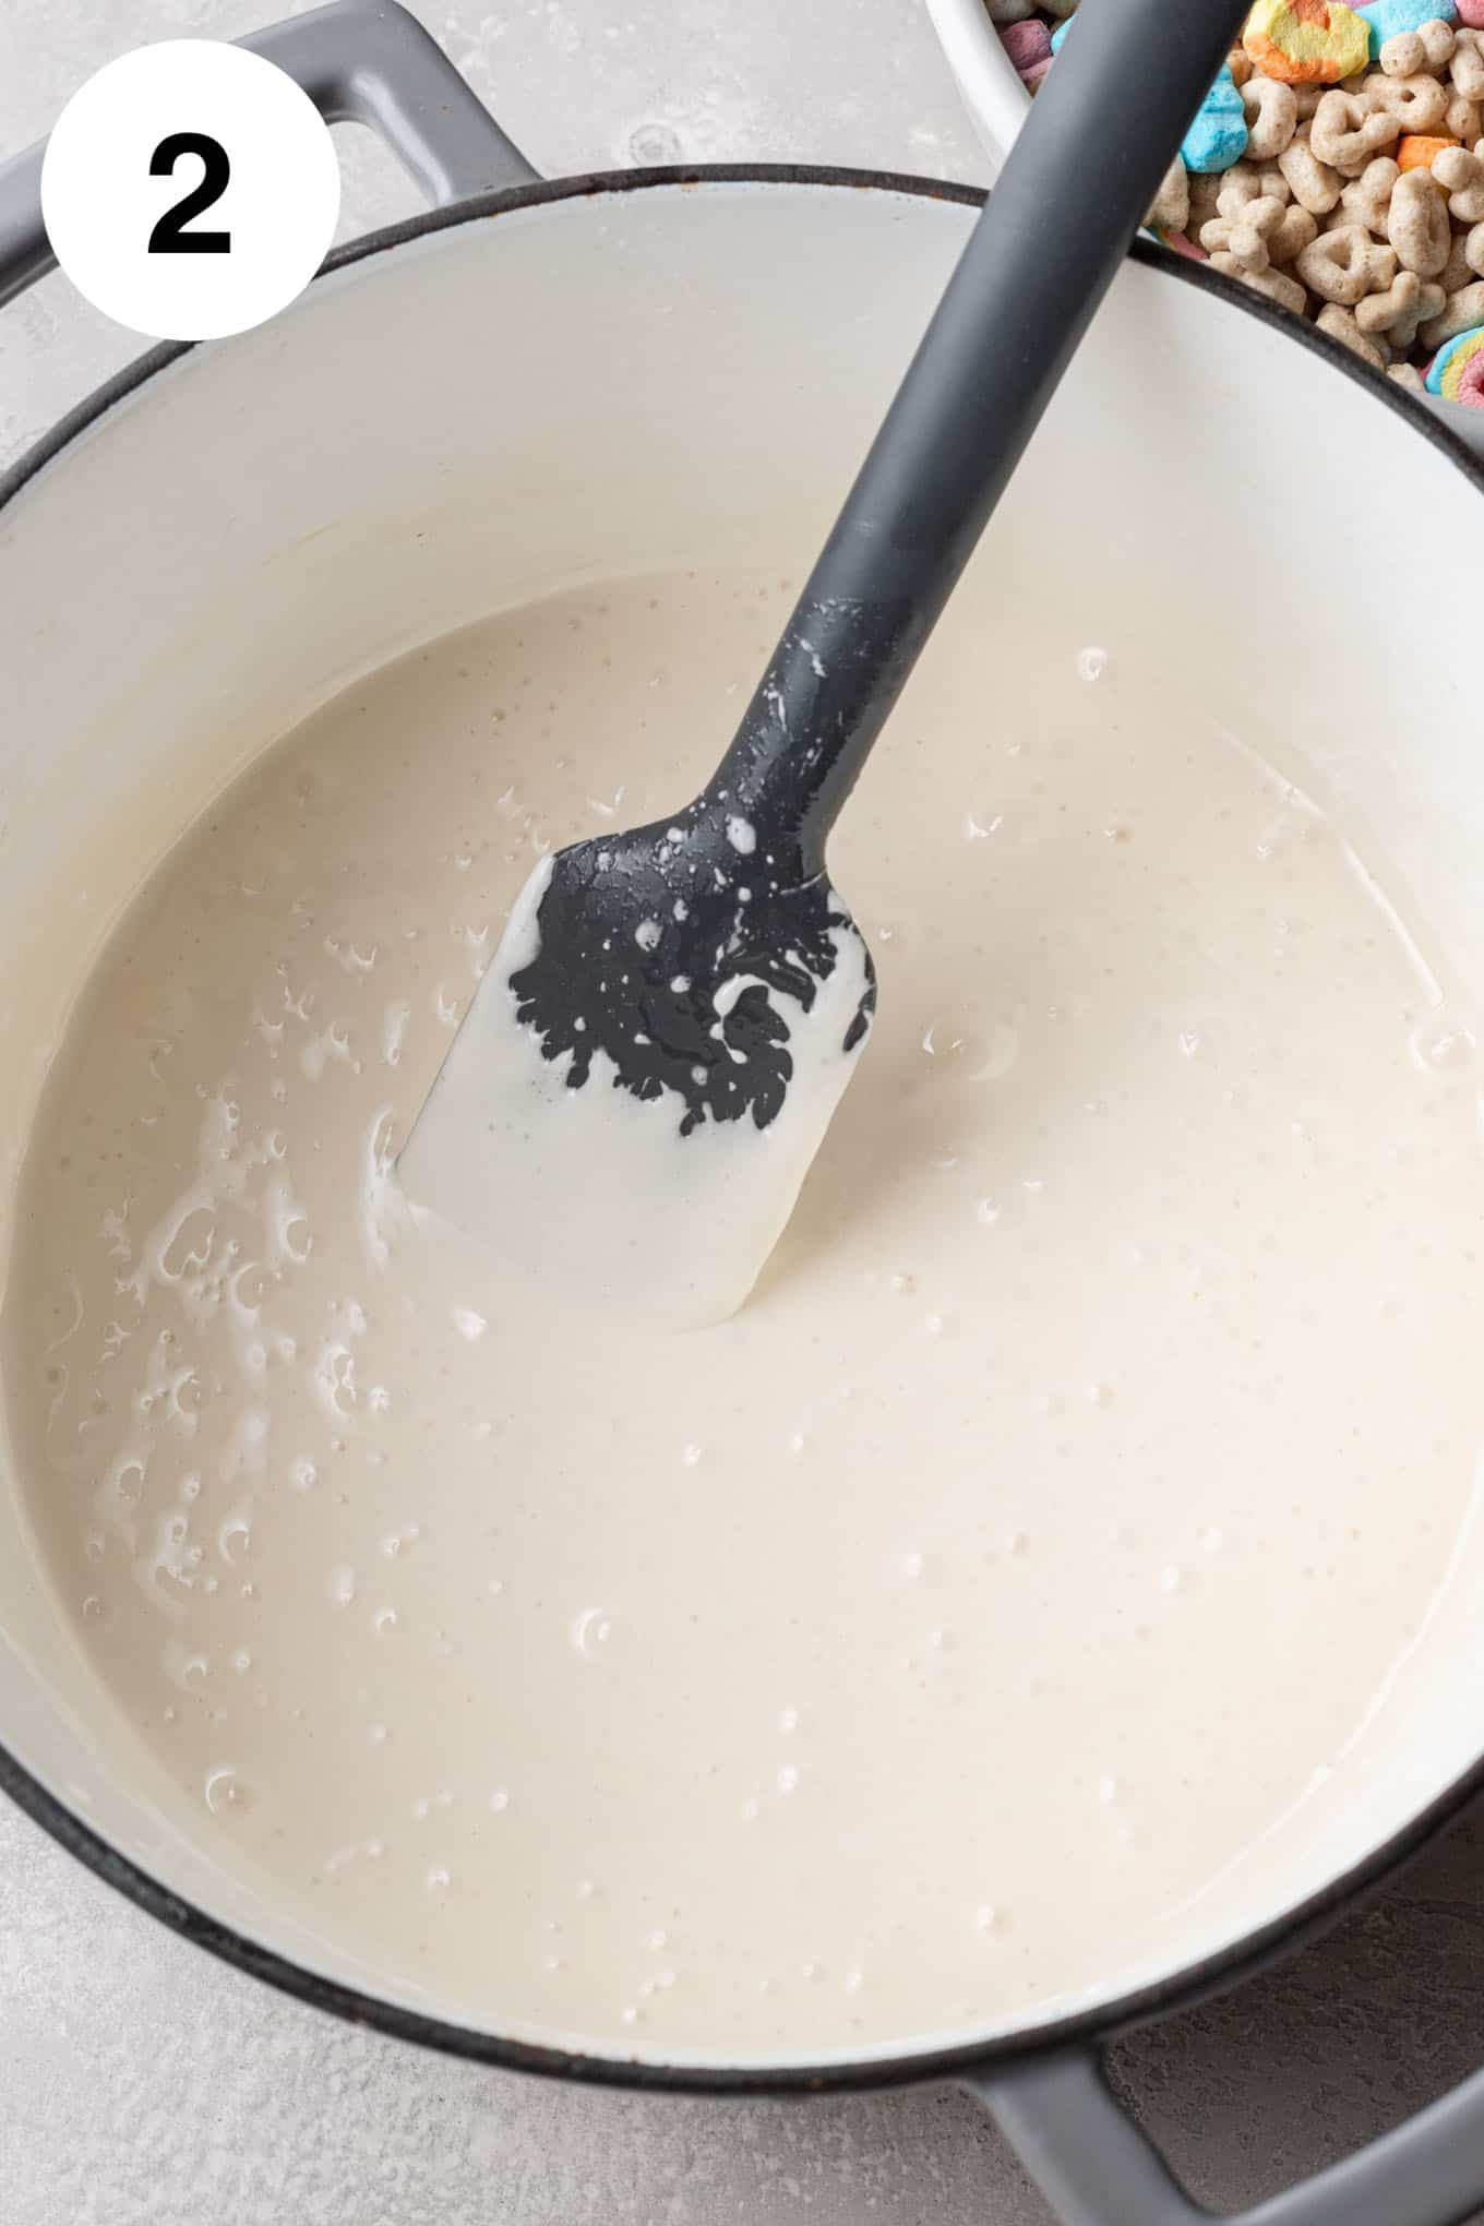
POLYGON ((1084 0, 714 781, 812 868, 1244 16, 1084 0))

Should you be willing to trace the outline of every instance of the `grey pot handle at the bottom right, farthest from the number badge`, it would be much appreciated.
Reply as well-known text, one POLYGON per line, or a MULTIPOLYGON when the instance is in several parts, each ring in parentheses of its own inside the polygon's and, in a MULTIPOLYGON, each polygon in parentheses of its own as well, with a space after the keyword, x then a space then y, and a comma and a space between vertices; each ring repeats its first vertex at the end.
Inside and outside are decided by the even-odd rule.
MULTIPOLYGON (((1090 2048, 1030 2057, 963 2081, 1061 2226, 1210 2226, 1175 2184, 1090 2048)), ((1226 2226, 1462 2226, 1484 2202, 1484 2072, 1226 2226)))

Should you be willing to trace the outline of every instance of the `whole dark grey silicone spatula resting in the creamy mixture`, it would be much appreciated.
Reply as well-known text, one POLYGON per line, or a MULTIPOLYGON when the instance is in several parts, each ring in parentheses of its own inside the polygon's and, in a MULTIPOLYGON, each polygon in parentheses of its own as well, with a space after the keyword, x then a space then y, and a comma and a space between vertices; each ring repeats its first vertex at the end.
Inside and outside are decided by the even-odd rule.
POLYGON ((874 1004, 830 828, 1244 13, 1084 0, 712 781, 516 902, 400 1158, 416 1204, 574 1296, 748 1296, 874 1004))

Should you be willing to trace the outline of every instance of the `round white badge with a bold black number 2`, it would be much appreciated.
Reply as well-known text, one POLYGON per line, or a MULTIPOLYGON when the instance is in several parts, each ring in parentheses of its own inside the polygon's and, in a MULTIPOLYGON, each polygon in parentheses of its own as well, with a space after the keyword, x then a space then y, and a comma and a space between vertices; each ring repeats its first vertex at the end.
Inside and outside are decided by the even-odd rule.
POLYGON ((340 214, 329 127, 274 62, 207 38, 138 47, 58 116, 42 162, 51 249, 105 316, 214 341, 285 309, 340 214))

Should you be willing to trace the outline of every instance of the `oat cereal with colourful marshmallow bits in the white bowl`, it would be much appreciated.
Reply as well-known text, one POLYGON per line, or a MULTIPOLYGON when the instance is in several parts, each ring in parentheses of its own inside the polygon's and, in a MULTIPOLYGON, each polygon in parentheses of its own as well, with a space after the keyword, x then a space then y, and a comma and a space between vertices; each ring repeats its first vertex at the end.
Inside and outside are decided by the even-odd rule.
MULTIPOLYGON (((1035 93, 1077 0, 986 4, 1035 93)), ((1484 407, 1484 0, 1255 0, 1150 225, 1402 385, 1484 407)))

